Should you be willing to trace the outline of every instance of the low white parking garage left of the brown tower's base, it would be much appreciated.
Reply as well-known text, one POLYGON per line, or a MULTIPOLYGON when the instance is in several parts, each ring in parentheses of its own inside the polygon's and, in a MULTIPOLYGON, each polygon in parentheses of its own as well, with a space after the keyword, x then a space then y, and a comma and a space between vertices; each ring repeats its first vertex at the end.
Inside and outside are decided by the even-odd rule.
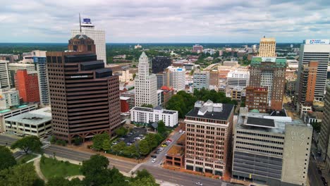
POLYGON ((8 134, 37 137, 46 137, 51 134, 51 110, 49 107, 6 118, 5 122, 8 134))

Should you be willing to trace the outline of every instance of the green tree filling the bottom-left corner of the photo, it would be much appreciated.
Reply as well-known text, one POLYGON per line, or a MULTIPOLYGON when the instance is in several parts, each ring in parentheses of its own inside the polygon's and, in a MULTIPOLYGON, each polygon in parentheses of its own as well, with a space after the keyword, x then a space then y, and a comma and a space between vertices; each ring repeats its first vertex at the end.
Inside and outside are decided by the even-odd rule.
POLYGON ((0 184, 6 186, 42 185, 33 163, 23 163, 0 171, 0 184))

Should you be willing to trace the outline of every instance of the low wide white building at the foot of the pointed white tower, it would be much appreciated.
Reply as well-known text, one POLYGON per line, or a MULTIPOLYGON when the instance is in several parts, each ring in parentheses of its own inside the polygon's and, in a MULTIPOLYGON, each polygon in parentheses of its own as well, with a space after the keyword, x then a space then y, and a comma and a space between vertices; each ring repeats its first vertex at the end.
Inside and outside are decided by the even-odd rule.
POLYGON ((178 124, 178 111, 170 111, 156 106, 154 109, 135 106, 130 110, 130 120, 136 124, 151 124, 163 120, 167 127, 178 124))

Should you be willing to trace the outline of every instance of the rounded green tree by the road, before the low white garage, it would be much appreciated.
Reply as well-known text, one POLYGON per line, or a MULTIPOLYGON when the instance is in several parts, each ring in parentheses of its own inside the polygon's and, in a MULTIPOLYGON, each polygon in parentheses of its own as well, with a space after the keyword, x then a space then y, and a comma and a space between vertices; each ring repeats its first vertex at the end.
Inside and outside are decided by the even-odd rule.
POLYGON ((22 149, 25 154, 28 154, 29 151, 40 152, 42 151, 41 147, 42 142, 36 136, 23 137, 11 145, 11 149, 22 149))

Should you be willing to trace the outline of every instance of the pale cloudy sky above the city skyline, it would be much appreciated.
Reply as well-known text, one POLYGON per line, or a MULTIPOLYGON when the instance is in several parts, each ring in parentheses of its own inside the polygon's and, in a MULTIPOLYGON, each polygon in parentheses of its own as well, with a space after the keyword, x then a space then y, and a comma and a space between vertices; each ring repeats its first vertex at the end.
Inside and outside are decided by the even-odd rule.
POLYGON ((329 39, 329 0, 0 0, 0 42, 67 42, 78 13, 106 42, 329 39))

